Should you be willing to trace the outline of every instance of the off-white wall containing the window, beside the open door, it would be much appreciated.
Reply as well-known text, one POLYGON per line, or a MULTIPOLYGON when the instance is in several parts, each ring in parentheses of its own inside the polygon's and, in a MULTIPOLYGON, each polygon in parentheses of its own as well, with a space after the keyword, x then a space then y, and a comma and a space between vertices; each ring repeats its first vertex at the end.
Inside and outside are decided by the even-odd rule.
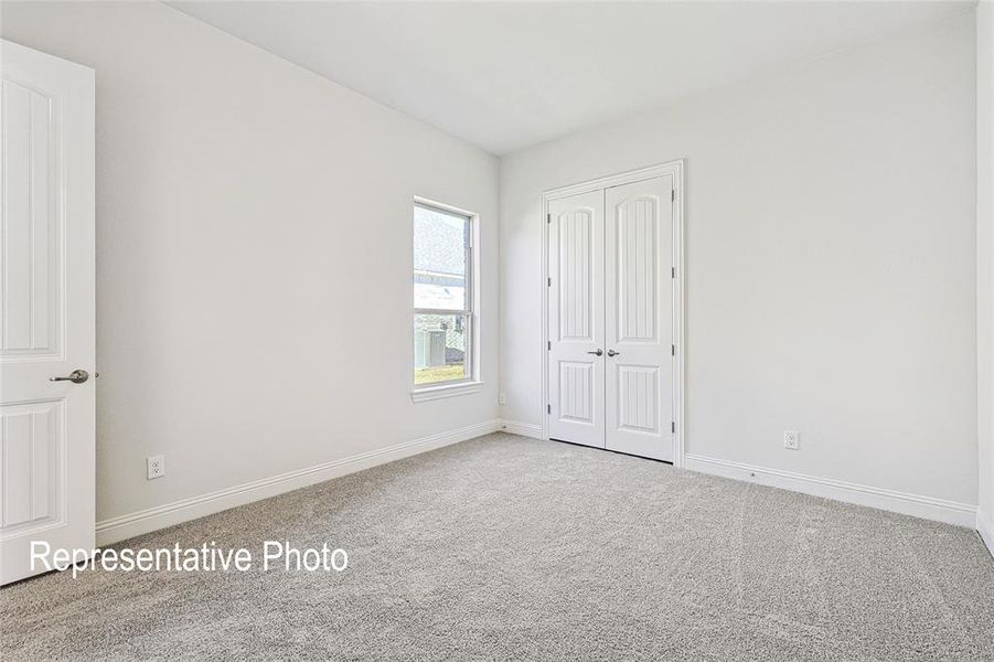
POLYGON ((98 520, 495 417, 493 157, 163 4, 0 23, 96 70, 98 520), (481 215, 477 395, 409 399, 416 194, 481 215))

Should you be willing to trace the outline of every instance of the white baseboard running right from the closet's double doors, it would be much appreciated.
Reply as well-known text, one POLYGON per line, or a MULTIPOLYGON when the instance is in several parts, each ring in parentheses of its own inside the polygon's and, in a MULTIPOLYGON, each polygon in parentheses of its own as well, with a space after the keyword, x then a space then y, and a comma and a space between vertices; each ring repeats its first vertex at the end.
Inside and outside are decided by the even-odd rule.
POLYGON ((834 499, 835 501, 855 503, 856 505, 891 511, 902 515, 945 522, 958 526, 973 528, 977 524, 975 505, 944 499, 908 494, 831 478, 804 476, 802 473, 781 471, 780 469, 767 469, 765 467, 755 467, 742 462, 719 460, 691 453, 685 457, 684 468, 701 473, 734 478, 814 496, 834 499))

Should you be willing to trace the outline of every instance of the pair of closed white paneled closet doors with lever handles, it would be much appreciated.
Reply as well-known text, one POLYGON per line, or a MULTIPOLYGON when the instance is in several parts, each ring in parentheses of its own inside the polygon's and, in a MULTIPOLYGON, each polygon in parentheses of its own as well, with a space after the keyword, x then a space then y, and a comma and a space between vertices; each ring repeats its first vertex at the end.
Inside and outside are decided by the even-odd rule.
POLYGON ((549 438, 673 461, 673 178, 548 212, 549 438))

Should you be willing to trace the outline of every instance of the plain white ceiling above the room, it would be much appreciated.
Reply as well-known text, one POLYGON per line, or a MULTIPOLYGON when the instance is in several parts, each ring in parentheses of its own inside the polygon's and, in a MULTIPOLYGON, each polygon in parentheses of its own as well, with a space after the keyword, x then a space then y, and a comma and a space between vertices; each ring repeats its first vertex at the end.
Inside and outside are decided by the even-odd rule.
POLYGON ((503 154, 973 2, 170 4, 503 154))

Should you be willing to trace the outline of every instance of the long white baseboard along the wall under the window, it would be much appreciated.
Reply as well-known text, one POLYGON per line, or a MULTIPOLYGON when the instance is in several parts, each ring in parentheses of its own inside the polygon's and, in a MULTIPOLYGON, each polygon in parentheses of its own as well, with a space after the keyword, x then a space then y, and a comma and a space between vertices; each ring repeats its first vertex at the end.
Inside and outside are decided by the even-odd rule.
POLYGON ((97 546, 105 546, 136 535, 196 520, 237 505, 276 496, 332 478, 353 473, 378 465, 385 465, 419 452, 466 441, 501 429, 500 420, 485 420, 457 430, 449 430, 413 441, 371 450, 341 460, 332 460, 313 467, 288 471, 270 478, 174 501, 157 508, 120 515, 97 522, 97 546))

